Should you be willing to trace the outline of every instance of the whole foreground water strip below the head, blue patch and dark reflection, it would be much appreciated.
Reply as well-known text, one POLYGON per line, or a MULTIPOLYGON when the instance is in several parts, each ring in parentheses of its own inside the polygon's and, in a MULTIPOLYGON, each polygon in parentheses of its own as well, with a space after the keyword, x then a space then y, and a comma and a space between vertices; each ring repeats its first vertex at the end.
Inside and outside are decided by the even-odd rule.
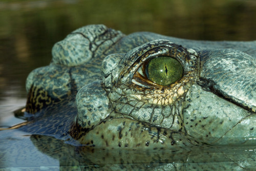
POLYGON ((2 134, 0 170, 254 170, 255 147, 204 147, 191 151, 112 150, 73 146, 50 136, 18 131, 2 134), (15 138, 13 138, 15 137, 15 138))

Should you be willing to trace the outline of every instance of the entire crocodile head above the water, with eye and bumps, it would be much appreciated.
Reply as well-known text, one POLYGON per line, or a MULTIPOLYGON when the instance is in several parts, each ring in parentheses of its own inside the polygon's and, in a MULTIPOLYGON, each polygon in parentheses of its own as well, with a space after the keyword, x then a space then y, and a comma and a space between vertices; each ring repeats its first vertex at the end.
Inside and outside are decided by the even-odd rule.
POLYGON ((96 147, 255 145, 255 57, 255 41, 86 26, 30 73, 26 110, 41 116, 20 130, 96 147))

